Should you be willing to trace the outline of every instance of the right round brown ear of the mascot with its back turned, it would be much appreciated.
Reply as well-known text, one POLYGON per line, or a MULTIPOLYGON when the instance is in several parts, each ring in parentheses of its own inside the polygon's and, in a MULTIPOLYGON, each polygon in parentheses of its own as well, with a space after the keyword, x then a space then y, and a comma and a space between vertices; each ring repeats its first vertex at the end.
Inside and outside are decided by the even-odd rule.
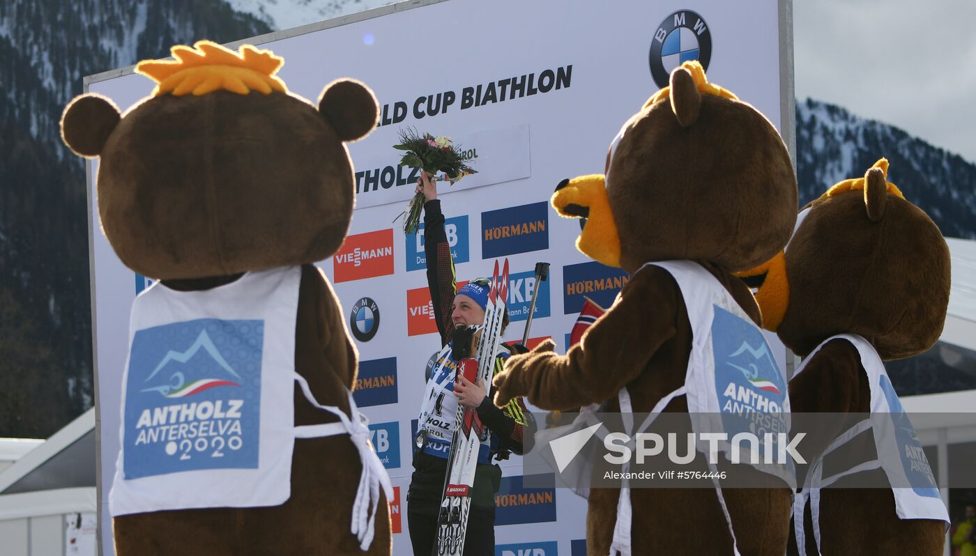
POLYGON ((355 79, 337 79, 326 85, 318 99, 318 111, 345 141, 366 137, 380 117, 376 96, 355 79))

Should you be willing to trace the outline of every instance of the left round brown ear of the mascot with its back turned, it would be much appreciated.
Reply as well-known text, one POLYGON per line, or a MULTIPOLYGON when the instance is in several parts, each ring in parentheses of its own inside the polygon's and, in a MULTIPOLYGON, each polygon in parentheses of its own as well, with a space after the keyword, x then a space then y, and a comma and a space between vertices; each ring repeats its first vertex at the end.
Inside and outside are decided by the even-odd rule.
POLYGON ((80 156, 99 156, 120 119, 119 109, 110 99, 95 94, 82 95, 64 108, 61 139, 80 156))

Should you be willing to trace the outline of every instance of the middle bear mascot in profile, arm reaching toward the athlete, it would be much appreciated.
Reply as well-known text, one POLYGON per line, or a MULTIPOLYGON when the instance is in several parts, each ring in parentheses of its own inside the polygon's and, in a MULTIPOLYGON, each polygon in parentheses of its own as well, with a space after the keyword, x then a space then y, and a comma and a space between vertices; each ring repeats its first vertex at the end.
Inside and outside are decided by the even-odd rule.
MULTIPOLYGON (((731 273, 771 258, 793 229, 796 180, 776 129, 750 104, 708 83, 698 62, 686 62, 671 73, 670 88, 649 99, 614 139, 605 176, 563 181, 552 205, 560 215, 588 218, 577 247, 623 267, 630 282, 566 355, 553 353, 549 341, 512 356, 495 377, 495 402, 524 395, 548 410, 606 402, 607 413, 719 413, 715 377, 724 370, 712 364, 712 405, 703 405, 708 387, 685 386, 709 367, 700 335, 704 341, 718 334, 703 324, 703 311, 716 323, 731 319, 765 346, 752 293, 731 273)), ((779 385, 778 403, 788 409, 785 374, 775 363, 767 370, 775 377, 764 378, 779 385)), ((791 492, 780 485, 592 489, 588 553, 782 555, 791 492)))

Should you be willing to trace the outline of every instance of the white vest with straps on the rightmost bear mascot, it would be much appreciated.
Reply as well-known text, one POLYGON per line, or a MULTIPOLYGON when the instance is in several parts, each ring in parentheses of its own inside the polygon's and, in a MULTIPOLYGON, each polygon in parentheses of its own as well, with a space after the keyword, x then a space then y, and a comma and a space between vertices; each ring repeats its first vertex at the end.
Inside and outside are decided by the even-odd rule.
POLYGON ((928 459, 922 452, 921 444, 915 437, 912 421, 902 408, 891 380, 884 371, 884 364, 874 346, 865 338, 857 335, 842 334, 827 338, 817 346, 796 370, 796 377, 803 372, 813 356, 829 341, 843 338, 857 348, 861 356, 861 366, 868 374, 868 384, 871 388, 871 414, 873 418, 865 419, 838 436, 824 453, 810 462, 803 490, 793 499, 793 531, 796 535, 796 546, 801 556, 806 554, 806 536, 803 529, 803 508, 810 500, 810 514, 813 519, 813 536, 817 541, 818 553, 821 546, 820 536, 820 489, 834 484, 838 479, 860 471, 881 468, 892 485, 912 485, 911 488, 892 488, 895 497, 895 511, 899 519, 934 519, 946 522, 949 527, 949 512, 942 502, 939 490, 935 485, 928 465, 928 459), (834 452, 838 447, 846 444, 854 437, 874 429, 874 447, 878 459, 856 465, 855 467, 824 477, 824 457, 834 452), (916 464, 913 465, 913 462, 916 464))

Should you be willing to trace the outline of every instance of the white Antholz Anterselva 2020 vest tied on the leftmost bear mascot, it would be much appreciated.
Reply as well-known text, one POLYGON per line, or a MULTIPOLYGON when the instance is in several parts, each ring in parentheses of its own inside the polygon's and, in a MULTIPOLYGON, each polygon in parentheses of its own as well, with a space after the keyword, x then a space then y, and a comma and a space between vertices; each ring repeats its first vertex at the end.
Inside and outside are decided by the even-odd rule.
POLYGON ((111 515, 260 507, 291 496, 296 438, 348 434, 362 474, 351 532, 372 543, 380 487, 389 477, 367 419, 322 406, 295 372, 299 266, 248 272, 200 292, 156 283, 132 308, 122 385, 122 427, 111 515), (295 426, 294 383, 339 422, 295 426))

